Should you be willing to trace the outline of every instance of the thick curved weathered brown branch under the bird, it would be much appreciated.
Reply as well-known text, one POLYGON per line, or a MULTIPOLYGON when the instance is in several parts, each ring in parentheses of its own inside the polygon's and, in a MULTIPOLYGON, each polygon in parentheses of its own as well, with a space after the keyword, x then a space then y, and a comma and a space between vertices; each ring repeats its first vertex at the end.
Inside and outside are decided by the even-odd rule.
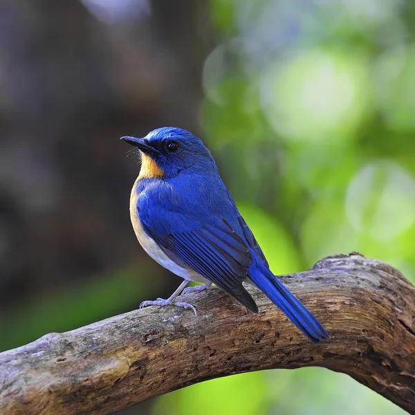
POLYGON ((192 311, 149 307, 0 353, 0 413, 110 414, 202 380, 321 366, 415 414, 415 288, 356 253, 282 277, 331 340, 311 344, 255 288, 260 313, 219 289, 183 296, 192 311))

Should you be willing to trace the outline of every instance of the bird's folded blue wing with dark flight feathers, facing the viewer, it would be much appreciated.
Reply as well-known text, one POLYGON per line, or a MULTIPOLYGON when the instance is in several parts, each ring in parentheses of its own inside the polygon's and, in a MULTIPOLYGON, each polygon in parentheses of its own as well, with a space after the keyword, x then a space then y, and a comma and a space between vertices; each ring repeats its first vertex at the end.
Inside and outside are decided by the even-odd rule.
POLYGON ((242 285, 252 263, 250 250, 225 219, 196 219, 195 214, 160 204, 151 203, 150 208, 146 198, 140 198, 137 208, 142 228, 172 261, 190 266, 257 313, 255 301, 242 285))

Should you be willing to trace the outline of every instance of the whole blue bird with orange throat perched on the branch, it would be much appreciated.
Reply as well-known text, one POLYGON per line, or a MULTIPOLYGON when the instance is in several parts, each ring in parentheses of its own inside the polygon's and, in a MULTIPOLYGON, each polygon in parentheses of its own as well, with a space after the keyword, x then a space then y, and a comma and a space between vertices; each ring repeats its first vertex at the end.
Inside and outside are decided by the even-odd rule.
POLYGON ((184 281, 167 299, 142 306, 192 304, 182 292, 215 284, 248 310, 258 307, 242 282, 257 286, 312 342, 329 339, 322 324, 270 271, 250 228, 219 176, 210 151, 189 131, 155 129, 145 138, 122 137, 140 150, 130 216, 138 241, 158 264, 184 281), (203 286, 186 288, 190 282, 203 286), (183 291, 184 290, 184 291, 183 291))

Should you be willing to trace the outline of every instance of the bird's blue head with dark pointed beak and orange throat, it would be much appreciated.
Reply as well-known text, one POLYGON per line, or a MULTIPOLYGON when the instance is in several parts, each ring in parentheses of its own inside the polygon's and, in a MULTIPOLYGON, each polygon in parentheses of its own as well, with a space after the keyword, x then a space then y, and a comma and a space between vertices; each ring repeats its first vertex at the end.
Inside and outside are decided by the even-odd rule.
POLYGON ((174 177, 189 169, 216 170, 210 151, 189 131, 175 127, 155 129, 144 138, 121 138, 141 154, 139 178, 174 177))

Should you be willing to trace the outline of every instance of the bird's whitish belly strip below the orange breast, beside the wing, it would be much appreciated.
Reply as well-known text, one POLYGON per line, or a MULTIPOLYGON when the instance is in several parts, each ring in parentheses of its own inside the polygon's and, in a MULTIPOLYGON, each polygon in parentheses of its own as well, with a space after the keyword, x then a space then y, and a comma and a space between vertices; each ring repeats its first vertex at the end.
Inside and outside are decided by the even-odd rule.
MULTIPOLYGON (((134 187, 133 187, 133 192, 134 192, 134 187)), ((140 242, 140 245, 145 250, 145 252, 147 252, 147 254, 151 258, 153 258, 154 261, 158 262, 158 264, 160 264, 164 268, 167 268, 167 270, 172 271, 172 273, 178 275, 179 277, 187 279, 188 281, 202 282, 203 284, 209 282, 208 279, 205 279, 205 277, 197 273, 195 270, 192 270, 192 268, 183 268, 181 266, 178 266, 174 261, 172 261, 172 259, 167 257, 165 252, 163 252, 163 250, 157 245, 154 239, 151 239, 145 233, 144 229, 142 229, 140 220, 138 219, 138 214, 136 210, 136 200, 137 200, 137 197, 131 194, 131 203, 130 203, 131 223, 133 224, 134 232, 136 232, 136 237, 138 239, 138 242, 140 242)))

